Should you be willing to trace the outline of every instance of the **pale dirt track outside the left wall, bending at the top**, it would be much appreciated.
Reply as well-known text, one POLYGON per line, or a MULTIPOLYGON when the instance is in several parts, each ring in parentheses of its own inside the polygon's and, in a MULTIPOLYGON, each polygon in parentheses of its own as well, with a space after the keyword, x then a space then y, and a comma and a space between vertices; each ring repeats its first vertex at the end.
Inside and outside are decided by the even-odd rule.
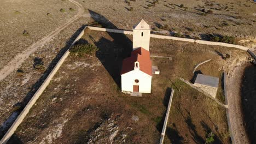
POLYGON ((84 14, 84 7, 75 2, 73 0, 68 0, 69 2, 75 4, 78 7, 78 13, 69 21, 67 21, 64 25, 60 26, 59 28, 55 29, 55 31, 51 32, 46 37, 42 38, 41 40, 37 41, 37 43, 32 44, 28 47, 27 50, 20 53, 19 55, 15 56, 13 60, 11 60, 7 65, 4 66, 3 69, 0 70, 0 81, 2 81, 5 77, 7 77, 12 71, 18 69, 20 65, 25 62, 27 57, 29 57, 33 52, 35 52, 39 47, 43 46, 45 43, 51 41, 57 34, 60 33, 63 29, 65 29, 68 25, 78 19, 79 16, 84 14))

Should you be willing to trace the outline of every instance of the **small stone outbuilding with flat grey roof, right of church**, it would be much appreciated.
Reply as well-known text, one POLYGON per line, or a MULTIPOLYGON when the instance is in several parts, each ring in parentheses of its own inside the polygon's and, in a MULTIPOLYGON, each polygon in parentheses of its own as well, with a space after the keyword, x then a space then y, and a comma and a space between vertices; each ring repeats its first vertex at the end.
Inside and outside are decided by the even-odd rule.
POLYGON ((219 78, 208 76, 208 75, 197 74, 194 86, 210 94, 213 98, 216 98, 216 94, 219 86, 219 78))

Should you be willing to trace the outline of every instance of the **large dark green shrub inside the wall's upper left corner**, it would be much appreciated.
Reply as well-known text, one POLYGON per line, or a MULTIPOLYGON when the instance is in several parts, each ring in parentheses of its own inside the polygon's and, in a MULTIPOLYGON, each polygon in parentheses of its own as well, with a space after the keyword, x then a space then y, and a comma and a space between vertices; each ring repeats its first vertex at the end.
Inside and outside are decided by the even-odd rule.
POLYGON ((97 47, 92 44, 75 44, 69 51, 82 56, 84 54, 92 55, 97 50, 97 47))

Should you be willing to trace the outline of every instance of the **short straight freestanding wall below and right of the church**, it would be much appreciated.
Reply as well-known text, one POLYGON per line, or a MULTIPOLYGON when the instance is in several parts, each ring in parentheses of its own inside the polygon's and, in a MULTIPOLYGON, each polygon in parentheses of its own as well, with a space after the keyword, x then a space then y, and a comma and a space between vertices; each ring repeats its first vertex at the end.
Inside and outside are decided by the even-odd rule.
POLYGON ((170 109, 171 109, 171 105, 172 105, 173 93, 174 93, 174 89, 172 88, 172 92, 171 92, 171 95, 170 95, 170 100, 169 100, 166 115, 165 115, 164 126, 162 127, 162 133, 161 133, 161 138, 160 138, 160 142, 159 142, 160 144, 164 143, 167 122, 168 122, 169 113, 170 113, 170 109))

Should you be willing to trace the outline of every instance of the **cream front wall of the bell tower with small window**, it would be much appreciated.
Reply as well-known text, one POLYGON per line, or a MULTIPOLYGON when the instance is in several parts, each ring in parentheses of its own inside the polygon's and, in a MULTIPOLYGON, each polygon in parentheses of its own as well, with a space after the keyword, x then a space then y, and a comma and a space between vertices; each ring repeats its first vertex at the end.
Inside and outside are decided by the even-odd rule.
POLYGON ((133 50, 143 47, 149 51, 150 44, 150 29, 133 29, 133 50), (143 36, 142 36, 143 33, 143 36))

